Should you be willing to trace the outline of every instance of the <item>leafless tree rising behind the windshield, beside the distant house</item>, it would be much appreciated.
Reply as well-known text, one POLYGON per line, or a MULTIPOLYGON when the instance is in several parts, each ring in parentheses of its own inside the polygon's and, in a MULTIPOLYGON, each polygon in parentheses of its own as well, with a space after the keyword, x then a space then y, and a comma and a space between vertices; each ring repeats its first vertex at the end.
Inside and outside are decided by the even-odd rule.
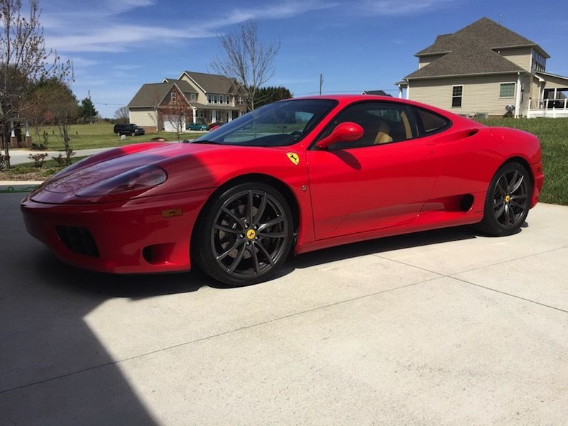
POLYGON ((280 50, 280 41, 263 44, 258 38, 258 22, 246 21, 239 31, 219 37, 224 58, 215 58, 214 70, 234 78, 237 88, 249 111, 254 109, 255 95, 259 87, 274 75, 274 58, 280 50))

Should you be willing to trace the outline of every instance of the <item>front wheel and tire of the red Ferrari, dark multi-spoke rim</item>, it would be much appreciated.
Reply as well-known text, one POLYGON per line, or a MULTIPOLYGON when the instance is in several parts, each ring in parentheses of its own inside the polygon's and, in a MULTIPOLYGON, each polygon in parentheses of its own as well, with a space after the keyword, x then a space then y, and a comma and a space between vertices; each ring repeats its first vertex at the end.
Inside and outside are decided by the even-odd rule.
POLYGON ((246 182, 204 207, 195 226, 192 260, 221 283, 251 285, 278 271, 292 240, 292 211, 283 195, 271 185, 246 182))

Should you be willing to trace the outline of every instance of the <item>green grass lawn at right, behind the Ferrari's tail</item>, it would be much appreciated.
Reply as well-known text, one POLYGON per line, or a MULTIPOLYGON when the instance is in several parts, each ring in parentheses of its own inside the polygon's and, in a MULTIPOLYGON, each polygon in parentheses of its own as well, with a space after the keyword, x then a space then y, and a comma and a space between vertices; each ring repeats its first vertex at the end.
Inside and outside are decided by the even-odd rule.
POLYGON ((540 201, 568 205, 568 119, 489 119, 488 126, 513 127, 535 134, 542 147, 545 185, 540 201))

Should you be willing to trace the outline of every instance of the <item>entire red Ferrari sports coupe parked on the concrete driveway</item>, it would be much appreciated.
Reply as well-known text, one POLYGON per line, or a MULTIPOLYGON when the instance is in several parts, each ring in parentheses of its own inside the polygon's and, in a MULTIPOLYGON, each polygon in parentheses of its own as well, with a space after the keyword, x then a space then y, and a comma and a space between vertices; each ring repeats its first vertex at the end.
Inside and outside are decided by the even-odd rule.
POLYGON ((538 138, 417 102, 324 96, 266 105, 192 143, 76 163, 21 203, 29 233, 109 273, 269 278, 290 251, 477 224, 518 231, 544 175, 538 138))

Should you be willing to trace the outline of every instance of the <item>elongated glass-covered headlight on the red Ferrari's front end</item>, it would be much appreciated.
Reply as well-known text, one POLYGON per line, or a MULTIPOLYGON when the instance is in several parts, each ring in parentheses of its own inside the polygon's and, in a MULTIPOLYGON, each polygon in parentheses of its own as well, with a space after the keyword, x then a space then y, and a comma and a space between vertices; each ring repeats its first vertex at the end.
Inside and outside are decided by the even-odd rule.
POLYGON ((124 194, 124 192, 144 192, 165 182, 168 174, 157 165, 141 167, 102 180, 77 192, 77 197, 102 197, 104 195, 124 194))

